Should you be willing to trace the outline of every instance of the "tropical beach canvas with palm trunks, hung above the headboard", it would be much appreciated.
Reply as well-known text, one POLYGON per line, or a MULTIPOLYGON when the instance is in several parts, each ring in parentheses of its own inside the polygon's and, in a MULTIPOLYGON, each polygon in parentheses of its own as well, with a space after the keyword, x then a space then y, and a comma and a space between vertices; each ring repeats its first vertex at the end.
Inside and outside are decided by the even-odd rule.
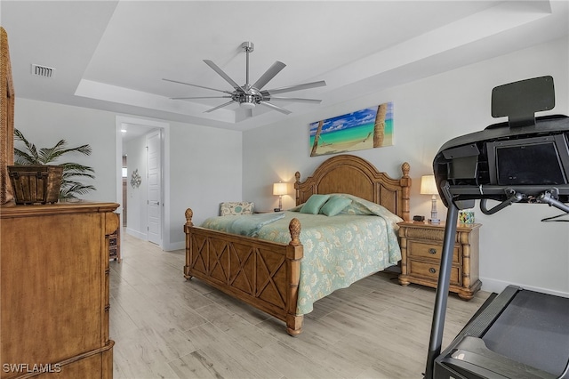
POLYGON ((310 157, 393 145, 393 102, 309 125, 310 157))

